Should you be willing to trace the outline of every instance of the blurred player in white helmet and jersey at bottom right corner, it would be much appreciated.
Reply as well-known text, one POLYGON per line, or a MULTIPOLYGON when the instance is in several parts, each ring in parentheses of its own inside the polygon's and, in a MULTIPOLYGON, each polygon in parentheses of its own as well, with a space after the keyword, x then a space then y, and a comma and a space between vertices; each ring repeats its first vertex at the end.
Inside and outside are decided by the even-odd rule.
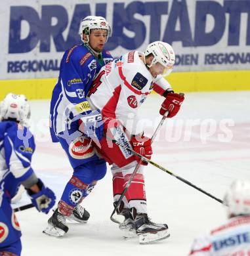
POLYGON ((228 221, 198 236, 189 255, 250 255, 250 181, 234 181, 224 197, 228 221))

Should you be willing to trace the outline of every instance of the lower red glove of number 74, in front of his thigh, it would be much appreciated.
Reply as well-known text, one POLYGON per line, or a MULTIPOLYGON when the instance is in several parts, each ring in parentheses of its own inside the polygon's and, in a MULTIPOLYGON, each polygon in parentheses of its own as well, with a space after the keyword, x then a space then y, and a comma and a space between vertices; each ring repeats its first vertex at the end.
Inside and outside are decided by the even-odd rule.
MULTIPOLYGON (((145 136, 142 137, 131 137, 131 144, 133 146, 133 150, 136 153, 145 156, 145 158, 151 159, 153 154, 151 147, 151 139, 145 136)), ((135 156, 136 161, 140 161, 140 157, 135 156)), ((142 161, 142 165, 148 165, 146 161, 142 161)))

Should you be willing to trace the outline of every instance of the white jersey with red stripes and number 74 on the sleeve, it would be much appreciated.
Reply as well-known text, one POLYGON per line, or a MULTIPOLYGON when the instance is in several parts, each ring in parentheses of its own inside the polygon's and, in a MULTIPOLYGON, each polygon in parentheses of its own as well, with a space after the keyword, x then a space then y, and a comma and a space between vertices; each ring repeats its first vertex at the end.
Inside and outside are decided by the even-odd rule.
POLYGON ((161 75, 152 76, 140 59, 143 54, 131 51, 106 64, 94 79, 88 96, 92 108, 100 110, 103 117, 119 119, 131 134, 141 133, 142 127, 128 125, 127 121, 138 123, 138 108, 153 88, 161 95, 172 90, 161 75))

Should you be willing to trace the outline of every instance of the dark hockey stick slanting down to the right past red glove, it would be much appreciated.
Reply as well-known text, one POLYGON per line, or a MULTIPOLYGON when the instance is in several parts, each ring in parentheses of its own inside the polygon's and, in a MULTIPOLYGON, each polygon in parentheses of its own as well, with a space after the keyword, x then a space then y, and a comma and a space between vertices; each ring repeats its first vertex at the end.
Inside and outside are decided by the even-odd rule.
MULTIPOLYGON (((177 178, 179 181, 182 181, 186 184, 188 184, 189 186, 192 186, 193 188, 195 188, 196 190, 199 190, 199 192, 209 196, 210 198, 213 198, 214 200, 216 200, 219 203, 224 204, 224 202, 222 200, 220 200, 219 198, 216 198, 215 196, 213 196, 212 194, 209 194, 208 192, 206 192, 205 190, 203 190, 202 188, 199 188, 198 186, 192 184, 190 181, 187 181, 186 179, 183 179, 182 177, 175 175, 175 173, 172 173, 171 171, 169 171, 168 169, 162 167, 161 165, 158 165, 157 163, 155 163, 154 161, 149 160, 148 158, 145 158, 144 156, 138 154, 137 152, 135 152, 134 150, 132 150, 131 148, 127 148, 125 146, 123 146, 122 144, 120 144, 119 142, 117 142, 116 140, 113 139, 113 142, 115 144, 117 144, 118 146, 123 147, 126 150, 129 150, 130 152, 132 152, 133 154, 135 154, 135 156, 138 156, 141 158, 142 161, 146 161, 147 163, 151 163, 152 165, 154 165, 155 167, 161 169, 162 171, 165 171, 165 173, 168 173, 169 175, 172 175, 173 177, 177 178)), ((126 190, 127 191, 127 190, 126 190)), ((124 193, 125 194, 125 193, 124 193)), ((119 201, 118 201, 119 202, 119 201)), ((114 213, 114 211, 113 211, 114 213)), ((111 217, 110 217, 111 219, 111 217)), ((113 220, 112 220, 113 221, 113 220)), ((114 221, 117 223, 117 221, 114 221)))

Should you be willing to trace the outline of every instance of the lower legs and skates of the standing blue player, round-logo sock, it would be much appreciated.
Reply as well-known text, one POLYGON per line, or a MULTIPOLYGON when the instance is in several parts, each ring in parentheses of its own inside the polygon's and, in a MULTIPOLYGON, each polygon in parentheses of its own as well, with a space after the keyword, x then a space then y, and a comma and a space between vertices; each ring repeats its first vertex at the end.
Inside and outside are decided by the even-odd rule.
POLYGON ((81 223, 89 219, 89 213, 79 203, 93 190, 96 184, 96 169, 100 172, 98 179, 102 179, 106 174, 106 163, 103 160, 89 161, 75 167, 72 178, 64 188, 58 209, 54 211, 48 221, 49 226, 44 230, 46 234, 64 236, 68 232, 66 219, 81 223))

